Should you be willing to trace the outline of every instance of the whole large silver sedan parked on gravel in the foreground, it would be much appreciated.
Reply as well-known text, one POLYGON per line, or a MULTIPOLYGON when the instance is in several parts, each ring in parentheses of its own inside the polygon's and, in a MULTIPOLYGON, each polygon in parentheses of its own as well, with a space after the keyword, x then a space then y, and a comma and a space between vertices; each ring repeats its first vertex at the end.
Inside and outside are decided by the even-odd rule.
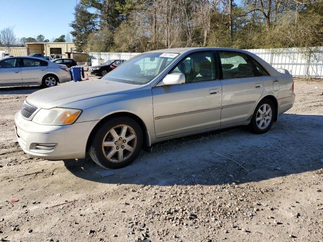
POLYGON ((270 130, 293 106, 294 83, 258 56, 228 48, 137 55, 102 79, 37 91, 16 114, 22 149, 44 159, 130 164, 141 148, 246 125, 270 130))

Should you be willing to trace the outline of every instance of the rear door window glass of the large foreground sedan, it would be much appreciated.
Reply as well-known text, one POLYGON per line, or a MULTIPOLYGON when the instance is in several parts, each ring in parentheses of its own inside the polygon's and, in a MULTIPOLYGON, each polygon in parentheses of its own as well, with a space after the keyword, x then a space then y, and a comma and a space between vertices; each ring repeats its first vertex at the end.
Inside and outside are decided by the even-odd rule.
POLYGON ((219 51, 223 79, 254 77, 253 64, 244 53, 219 51))

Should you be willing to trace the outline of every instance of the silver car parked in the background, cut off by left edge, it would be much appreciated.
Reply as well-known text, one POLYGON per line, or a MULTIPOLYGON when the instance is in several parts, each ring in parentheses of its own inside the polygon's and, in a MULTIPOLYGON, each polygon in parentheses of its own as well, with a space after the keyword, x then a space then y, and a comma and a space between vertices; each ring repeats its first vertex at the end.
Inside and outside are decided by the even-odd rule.
POLYGON ((65 65, 30 56, 7 57, 0 60, 0 87, 28 85, 53 87, 58 83, 69 81, 71 74, 65 65))

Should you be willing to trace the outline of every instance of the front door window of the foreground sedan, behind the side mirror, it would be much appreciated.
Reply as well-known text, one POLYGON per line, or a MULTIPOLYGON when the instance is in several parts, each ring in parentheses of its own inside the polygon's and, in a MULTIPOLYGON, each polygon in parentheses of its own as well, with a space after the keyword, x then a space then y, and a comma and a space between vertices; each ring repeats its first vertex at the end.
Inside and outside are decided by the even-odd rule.
POLYGON ((185 83, 216 79, 213 52, 197 52, 185 57, 171 73, 183 73, 185 83))

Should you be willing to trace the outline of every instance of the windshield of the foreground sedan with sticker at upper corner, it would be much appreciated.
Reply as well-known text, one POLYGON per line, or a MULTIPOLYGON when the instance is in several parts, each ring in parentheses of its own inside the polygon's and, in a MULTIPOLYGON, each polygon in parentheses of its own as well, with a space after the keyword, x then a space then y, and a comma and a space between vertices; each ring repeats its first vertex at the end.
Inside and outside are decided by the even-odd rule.
POLYGON ((174 61, 178 53, 144 53, 125 62, 102 79, 142 85, 150 82, 174 61))

